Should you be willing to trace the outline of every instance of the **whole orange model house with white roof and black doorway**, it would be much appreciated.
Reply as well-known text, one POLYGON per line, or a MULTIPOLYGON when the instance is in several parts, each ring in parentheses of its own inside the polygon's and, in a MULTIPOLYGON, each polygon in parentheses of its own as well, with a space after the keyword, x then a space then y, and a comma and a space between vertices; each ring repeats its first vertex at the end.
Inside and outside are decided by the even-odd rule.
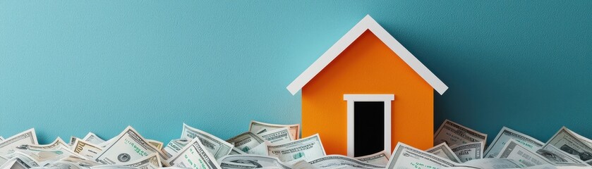
POLYGON ((433 146, 433 91, 448 87, 366 15, 287 89, 302 89, 303 137, 319 133, 327 154, 357 157, 433 146))

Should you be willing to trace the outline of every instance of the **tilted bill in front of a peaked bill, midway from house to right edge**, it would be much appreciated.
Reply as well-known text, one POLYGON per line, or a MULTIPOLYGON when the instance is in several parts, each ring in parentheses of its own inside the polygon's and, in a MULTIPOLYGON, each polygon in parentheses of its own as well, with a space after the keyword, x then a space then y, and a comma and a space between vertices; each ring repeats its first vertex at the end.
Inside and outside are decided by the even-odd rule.
POLYGON ((497 158, 508 158, 518 161, 520 168, 544 164, 554 165, 554 163, 548 161, 547 158, 530 151, 530 149, 525 148, 519 142, 514 141, 514 139, 509 139, 505 144, 504 149, 502 149, 500 154, 497 155, 497 158))

